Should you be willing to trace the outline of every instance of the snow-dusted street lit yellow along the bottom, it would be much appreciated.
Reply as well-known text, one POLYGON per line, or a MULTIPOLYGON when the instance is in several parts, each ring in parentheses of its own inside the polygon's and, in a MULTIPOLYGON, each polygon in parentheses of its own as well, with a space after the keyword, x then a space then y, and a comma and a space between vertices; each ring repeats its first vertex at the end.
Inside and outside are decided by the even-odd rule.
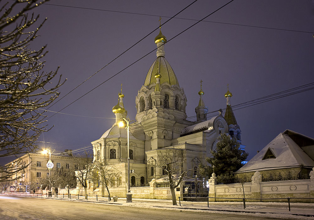
MULTIPOLYGON (((266 219, 248 214, 212 214, 208 212, 190 212, 125 207, 83 202, 39 199, 29 197, 0 196, 0 220, 78 220, 78 219, 266 219)), ((269 218, 273 219, 273 218, 269 218)))

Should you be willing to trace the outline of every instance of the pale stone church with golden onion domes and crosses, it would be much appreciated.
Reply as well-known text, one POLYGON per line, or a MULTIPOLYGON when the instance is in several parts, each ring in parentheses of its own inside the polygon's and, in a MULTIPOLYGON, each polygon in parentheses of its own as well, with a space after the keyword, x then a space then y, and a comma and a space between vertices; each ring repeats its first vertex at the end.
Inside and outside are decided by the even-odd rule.
MULTIPOLYGON (((157 58, 150 66, 143 86, 135 97, 137 114, 129 124, 129 156, 131 186, 144 186, 153 178, 164 176, 162 168, 154 166, 164 149, 181 149, 185 167, 190 170, 198 163, 206 163, 217 144, 217 137, 229 133, 241 144, 241 130, 230 105, 232 93, 225 93, 227 107, 225 115, 207 118, 208 108, 203 101, 202 80, 195 104, 196 120, 187 120, 187 98, 179 85, 174 70, 165 59, 166 37, 161 33, 154 39, 157 58)), ((184 73, 180 74, 181 76, 184 73)), ((123 105, 124 94, 119 93, 117 104, 112 108, 116 121, 98 140, 92 143, 94 161, 106 161, 115 165, 119 177, 115 186, 127 185, 127 130, 119 127, 122 118, 127 118, 123 105)), ((129 98, 129 97, 126 97, 129 98)), ((243 145, 241 148, 244 150, 243 145)), ((111 184, 112 185, 112 184, 111 184)))

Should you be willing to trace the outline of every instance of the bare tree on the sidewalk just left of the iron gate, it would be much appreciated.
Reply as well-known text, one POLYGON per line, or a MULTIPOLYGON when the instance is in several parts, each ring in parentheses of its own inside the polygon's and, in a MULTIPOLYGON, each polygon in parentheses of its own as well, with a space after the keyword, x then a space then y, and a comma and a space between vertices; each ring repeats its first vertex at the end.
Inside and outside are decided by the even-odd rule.
POLYGON ((157 167, 161 168, 163 179, 169 183, 172 204, 176 205, 175 189, 180 185, 184 178, 189 178, 188 173, 192 170, 185 170, 183 150, 175 148, 166 148, 158 150, 157 167))

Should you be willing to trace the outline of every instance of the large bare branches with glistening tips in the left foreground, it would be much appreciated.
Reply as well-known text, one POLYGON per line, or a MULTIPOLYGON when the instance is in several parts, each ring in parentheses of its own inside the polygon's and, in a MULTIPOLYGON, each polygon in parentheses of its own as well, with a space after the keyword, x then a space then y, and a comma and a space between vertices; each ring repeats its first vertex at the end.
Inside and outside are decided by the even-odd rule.
MULTIPOLYGON (((36 25, 39 15, 28 13, 41 3, 17 0, 0 8, 0 158, 18 158, 36 150, 38 137, 49 130, 42 108, 58 97, 57 89, 64 83, 60 76, 51 85, 57 70, 43 69, 46 45, 39 50, 30 49, 46 19, 36 25)), ((8 178, 23 169, 0 166, 0 173, 6 172, 8 178)))

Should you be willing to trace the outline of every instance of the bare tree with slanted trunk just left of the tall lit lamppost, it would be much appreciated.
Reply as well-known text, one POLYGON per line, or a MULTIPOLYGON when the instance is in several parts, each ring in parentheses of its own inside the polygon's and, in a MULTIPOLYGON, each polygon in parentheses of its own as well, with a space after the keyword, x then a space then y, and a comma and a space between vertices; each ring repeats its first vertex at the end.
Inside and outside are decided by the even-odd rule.
MULTIPOLYGON (((119 182, 118 177, 121 172, 116 169, 115 165, 109 165, 106 160, 100 160, 94 162, 94 168, 91 175, 91 180, 94 183, 101 183, 101 196, 105 195, 105 187, 107 189, 109 200, 111 200, 110 192, 108 189, 108 183, 112 183, 115 180, 119 182)), ((118 184, 117 184, 118 185, 118 184)))

